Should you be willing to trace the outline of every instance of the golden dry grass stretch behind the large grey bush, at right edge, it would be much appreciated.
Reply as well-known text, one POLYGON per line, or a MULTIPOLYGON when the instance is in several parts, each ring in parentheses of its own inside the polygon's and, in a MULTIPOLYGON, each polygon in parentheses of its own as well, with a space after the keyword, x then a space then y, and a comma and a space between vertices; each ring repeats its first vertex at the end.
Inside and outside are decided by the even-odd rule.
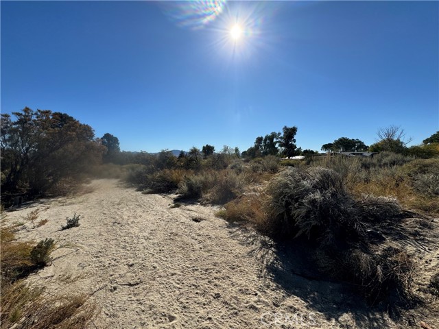
POLYGON ((383 152, 372 159, 332 157, 320 162, 340 173, 356 197, 394 197, 405 208, 439 213, 439 159, 383 152))

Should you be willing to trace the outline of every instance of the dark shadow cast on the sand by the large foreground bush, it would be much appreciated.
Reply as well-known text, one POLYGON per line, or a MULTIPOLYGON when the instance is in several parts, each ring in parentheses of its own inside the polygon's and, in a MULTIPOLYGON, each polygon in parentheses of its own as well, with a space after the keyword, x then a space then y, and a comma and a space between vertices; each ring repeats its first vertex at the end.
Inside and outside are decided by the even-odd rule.
POLYGON ((253 248, 250 255, 261 262, 261 276, 272 280, 287 295, 300 297, 307 306, 335 321, 341 328, 390 328, 388 316, 381 306, 370 307, 358 293, 358 287, 348 282, 324 278, 313 268, 311 249, 304 241, 274 243, 254 230, 230 223, 230 234, 253 248), (348 313, 355 326, 346 326, 342 316, 348 313))

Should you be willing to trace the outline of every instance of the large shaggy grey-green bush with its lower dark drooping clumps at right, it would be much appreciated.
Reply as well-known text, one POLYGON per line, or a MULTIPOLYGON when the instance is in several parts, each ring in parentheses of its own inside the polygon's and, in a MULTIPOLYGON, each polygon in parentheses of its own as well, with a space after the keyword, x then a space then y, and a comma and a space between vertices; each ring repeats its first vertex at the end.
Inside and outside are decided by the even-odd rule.
POLYGON ((382 247, 403 210, 395 199, 349 193, 332 169, 286 168, 265 188, 265 221, 259 228, 281 239, 306 238, 320 269, 360 287, 371 303, 412 297, 414 263, 402 249, 382 247), (341 263, 340 263, 341 262, 341 263), (342 265, 342 266, 340 266, 342 265))

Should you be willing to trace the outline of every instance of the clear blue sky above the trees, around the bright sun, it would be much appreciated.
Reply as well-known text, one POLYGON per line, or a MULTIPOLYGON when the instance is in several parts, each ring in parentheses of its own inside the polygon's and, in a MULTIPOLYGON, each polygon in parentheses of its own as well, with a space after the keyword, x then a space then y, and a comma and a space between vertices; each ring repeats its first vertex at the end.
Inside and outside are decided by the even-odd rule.
POLYGON ((148 152, 439 130, 438 1, 215 4, 1 1, 1 112, 65 112, 148 152))

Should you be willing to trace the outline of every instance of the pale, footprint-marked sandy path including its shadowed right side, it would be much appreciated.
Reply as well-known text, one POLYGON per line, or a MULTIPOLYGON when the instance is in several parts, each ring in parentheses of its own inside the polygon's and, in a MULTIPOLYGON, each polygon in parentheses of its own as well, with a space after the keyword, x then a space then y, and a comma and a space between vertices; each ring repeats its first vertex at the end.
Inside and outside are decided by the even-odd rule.
MULTIPOLYGON (((24 223, 19 239, 56 239, 51 265, 27 280, 91 295, 101 310, 91 328, 404 328, 340 284, 279 263, 268 239, 215 217, 218 208, 171 208, 173 195, 145 195, 117 180, 87 188, 7 220, 24 223), (39 228, 24 219, 35 209, 36 222, 47 219, 39 228), (60 230, 74 213, 80 226, 60 230)), ((437 265, 437 250, 423 257, 437 265)), ((425 317, 416 321, 439 325, 425 317)))

